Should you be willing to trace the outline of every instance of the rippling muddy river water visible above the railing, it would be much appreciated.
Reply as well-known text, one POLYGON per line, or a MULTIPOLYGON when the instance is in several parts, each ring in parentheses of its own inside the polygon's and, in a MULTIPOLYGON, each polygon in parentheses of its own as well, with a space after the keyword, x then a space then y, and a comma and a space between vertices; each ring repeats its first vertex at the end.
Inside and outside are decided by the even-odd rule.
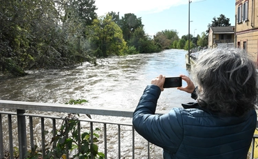
MULTIPOLYGON (((98 59, 98 65, 83 63, 74 69, 36 70, 28 76, 0 78, 0 99, 39 103, 66 103, 86 99, 86 105, 134 109, 144 88, 159 74, 189 75, 184 50, 165 50, 153 54, 112 56, 98 59)), ((186 83, 183 82, 183 87, 186 83)), ((158 109, 181 107, 192 101, 186 92, 165 89, 158 109)))

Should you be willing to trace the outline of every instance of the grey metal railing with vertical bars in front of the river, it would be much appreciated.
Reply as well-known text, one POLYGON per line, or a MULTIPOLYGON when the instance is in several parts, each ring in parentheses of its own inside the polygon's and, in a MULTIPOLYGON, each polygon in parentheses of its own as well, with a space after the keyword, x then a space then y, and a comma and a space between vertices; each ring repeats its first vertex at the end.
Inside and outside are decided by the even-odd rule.
MULTIPOLYGON (((162 156, 160 147, 147 142, 134 131, 131 123, 132 109, 11 100, 0 100, 0 108, 2 108, 0 112, 0 158, 6 158, 4 156, 6 153, 9 155, 8 158, 14 158, 15 151, 19 149, 19 158, 22 159, 36 146, 41 147, 42 158, 44 158, 46 143, 56 136, 58 123, 60 126, 60 121, 66 120, 63 117, 65 114, 91 114, 92 119, 87 116, 77 119, 79 121, 78 136, 81 131, 89 131, 91 138, 94 138, 94 127, 100 128, 102 131, 97 145, 99 151, 105 154, 105 158, 160 158, 162 156), (45 131, 52 133, 47 136, 45 131)), ((164 113, 156 112, 156 114, 164 113)), ((252 158, 254 147, 256 147, 255 138, 258 137, 253 138, 250 154, 252 158)), ((66 156, 72 156, 72 151, 67 151, 66 156)))

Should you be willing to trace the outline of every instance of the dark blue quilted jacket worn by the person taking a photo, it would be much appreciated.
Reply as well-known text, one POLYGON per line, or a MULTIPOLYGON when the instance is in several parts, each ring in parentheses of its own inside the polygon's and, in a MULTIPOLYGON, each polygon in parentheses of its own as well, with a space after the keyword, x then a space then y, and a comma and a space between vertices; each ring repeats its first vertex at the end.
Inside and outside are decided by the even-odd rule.
MULTIPOLYGON (((178 107, 155 115, 160 93, 158 86, 146 87, 133 113, 133 127, 163 148, 163 158, 246 159, 257 123, 255 109, 243 117, 178 107)), ((199 107, 197 103, 193 106, 199 107)))

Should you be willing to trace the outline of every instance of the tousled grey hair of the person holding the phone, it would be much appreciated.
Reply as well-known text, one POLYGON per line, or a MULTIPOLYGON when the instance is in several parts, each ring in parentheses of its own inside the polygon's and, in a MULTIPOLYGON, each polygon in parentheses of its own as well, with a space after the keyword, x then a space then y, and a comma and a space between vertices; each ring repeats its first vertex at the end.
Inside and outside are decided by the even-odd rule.
POLYGON ((243 50, 217 48, 200 53, 193 70, 197 101, 211 112, 242 116, 255 107, 257 75, 243 50))

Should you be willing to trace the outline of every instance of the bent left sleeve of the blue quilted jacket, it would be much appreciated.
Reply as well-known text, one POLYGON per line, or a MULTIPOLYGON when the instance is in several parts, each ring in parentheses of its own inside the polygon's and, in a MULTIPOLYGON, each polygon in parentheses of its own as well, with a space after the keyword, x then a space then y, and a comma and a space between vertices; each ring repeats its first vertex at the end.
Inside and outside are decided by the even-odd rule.
POLYGON ((175 153, 183 138, 182 117, 178 108, 168 114, 155 115, 160 93, 158 86, 147 86, 133 113, 133 127, 149 142, 175 153))

